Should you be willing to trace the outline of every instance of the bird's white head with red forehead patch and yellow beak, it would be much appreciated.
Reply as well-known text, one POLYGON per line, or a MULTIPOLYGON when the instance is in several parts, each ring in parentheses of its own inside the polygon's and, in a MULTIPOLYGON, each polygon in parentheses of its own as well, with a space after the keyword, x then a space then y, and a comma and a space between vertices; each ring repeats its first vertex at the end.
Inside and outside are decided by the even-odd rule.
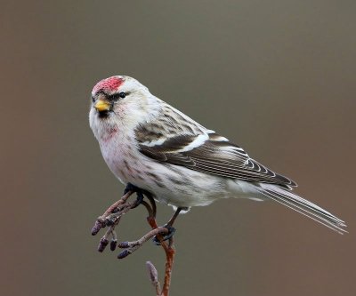
POLYGON ((134 128, 152 113, 155 97, 148 88, 129 76, 111 76, 93 87, 89 112, 95 136, 119 129, 134 128))

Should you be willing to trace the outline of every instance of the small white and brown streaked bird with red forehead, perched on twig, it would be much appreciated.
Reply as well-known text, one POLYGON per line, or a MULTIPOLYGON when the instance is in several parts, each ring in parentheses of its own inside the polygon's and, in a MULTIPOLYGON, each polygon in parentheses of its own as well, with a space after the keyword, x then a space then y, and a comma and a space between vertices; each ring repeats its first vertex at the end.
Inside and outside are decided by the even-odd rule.
MULTIPOLYGON (((109 170, 175 217, 228 197, 273 200, 343 234, 346 224, 296 195, 291 180, 258 163, 222 135, 151 94, 130 76, 93 86, 89 124, 109 170)), ((171 223, 172 224, 172 223, 171 223)))

